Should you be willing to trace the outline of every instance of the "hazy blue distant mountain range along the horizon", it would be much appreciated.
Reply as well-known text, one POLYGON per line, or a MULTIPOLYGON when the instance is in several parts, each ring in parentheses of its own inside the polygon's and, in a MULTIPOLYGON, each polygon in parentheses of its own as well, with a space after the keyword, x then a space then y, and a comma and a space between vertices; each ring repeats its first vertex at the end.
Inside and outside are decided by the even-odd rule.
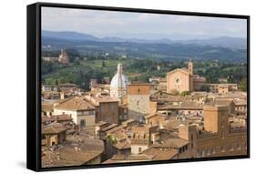
POLYGON ((182 44, 182 45, 200 45, 214 47, 229 47, 231 49, 246 49, 247 40, 241 37, 221 36, 209 39, 189 39, 189 40, 171 40, 169 38, 162 39, 138 39, 138 38, 121 38, 116 36, 97 37, 88 34, 71 32, 71 31, 42 31, 43 38, 52 38, 57 40, 68 41, 95 41, 95 42, 129 42, 140 44, 182 44))

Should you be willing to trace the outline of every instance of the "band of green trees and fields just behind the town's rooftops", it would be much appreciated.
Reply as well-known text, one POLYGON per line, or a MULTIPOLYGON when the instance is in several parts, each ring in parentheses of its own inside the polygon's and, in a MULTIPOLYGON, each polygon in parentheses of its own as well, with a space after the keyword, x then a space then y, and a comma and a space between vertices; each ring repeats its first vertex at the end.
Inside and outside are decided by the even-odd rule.
MULTIPOLYGON (((61 83, 76 83, 79 87, 89 89, 91 78, 97 78, 101 83, 104 77, 111 77, 117 72, 118 63, 123 64, 124 73, 128 75, 131 81, 148 82, 149 77, 166 77, 167 72, 181 67, 188 66, 186 61, 160 61, 152 58, 135 58, 127 56, 122 58, 115 53, 104 52, 82 52, 75 49, 66 49, 68 56, 72 59, 68 65, 58 62, 46 62, 42 60, 41 70, 43 83, 54 85, 61 83), (158 69, 157 67, 160 67, 158 69)), ((55 56, 53 51, 44 53, 48 56, 55 56)), ((219 83, 220 77, 226 77, 228 83, 238 83, 242 90, 246 90, 247 65, 222 63, 219 61, 193 61, 194 73, 199 74, 207 79, 207 83, 219 83), (243 79, 243 80, 242 80, 243 79)), ((201 90, 208 91, 207 87, 201 90)), ((178 91, 173 91, 179 95, 178 91)), ((186 94, 181 94, 186 95, 186 94)))

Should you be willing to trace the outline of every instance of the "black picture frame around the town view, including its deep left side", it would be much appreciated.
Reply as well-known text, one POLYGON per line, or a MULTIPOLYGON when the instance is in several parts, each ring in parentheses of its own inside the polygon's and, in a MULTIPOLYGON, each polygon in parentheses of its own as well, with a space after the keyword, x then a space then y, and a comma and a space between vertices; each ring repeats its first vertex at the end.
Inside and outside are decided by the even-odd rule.
POLYGON ((123 166, 138 166, 152 165, 162 163, 177 163, 177 162, 195 162, 207 160, 222 160, 222 159, 248 159, 250 158, 250 16, 249 15, 227 15, 227 14, 211 14, 198 12, 181 12, 169 10, 154 10, 154 9, 139 9, 139 8, 124 8, 110 6, 95 6, 95 5, 67 5, 67 4, 50 4, 36 3, 27 5, 27 90, 26 90, 26 168, 35 171, 48 171, 60 169, 91 169, 91 168, 107 168, 107 167, 123 167, 123 166), (88 166, 72 166, 72 167, 56 167, 56 168, 41 168, 41 8, 42 7, 61 7, 74 9, 94 9, 107 11, 122 11, 122 12, 142 12, 151 14, 166 14, 166 15, 196 15, 196 16, 212 16, 239 18, 247 20, 247 155, 229 156, 218 158, 200 158, 200 159, 173 159, 164 161, 148 161, 148 162, 133 162, 133 163, 117 163, 117 164, 100 164, 88 166))

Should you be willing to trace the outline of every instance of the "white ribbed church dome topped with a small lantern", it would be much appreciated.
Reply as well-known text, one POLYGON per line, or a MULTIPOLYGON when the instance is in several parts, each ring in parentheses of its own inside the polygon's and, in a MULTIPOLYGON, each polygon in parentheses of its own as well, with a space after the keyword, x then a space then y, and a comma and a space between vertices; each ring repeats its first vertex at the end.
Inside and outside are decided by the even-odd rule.
POLYGON ((111 79, 110 87, 127 88, 128 77, 123 75, 122 64, 118 64, 117 74, 111 79))

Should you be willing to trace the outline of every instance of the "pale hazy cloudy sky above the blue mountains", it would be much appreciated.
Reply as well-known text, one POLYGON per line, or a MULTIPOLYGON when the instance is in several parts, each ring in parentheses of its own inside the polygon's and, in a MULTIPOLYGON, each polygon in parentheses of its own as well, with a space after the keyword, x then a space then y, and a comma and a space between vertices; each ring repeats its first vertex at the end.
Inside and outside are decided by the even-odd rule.
POLYGON ((244 37, 245 19, 42 7, 42 29, 148 39, 244 37))

